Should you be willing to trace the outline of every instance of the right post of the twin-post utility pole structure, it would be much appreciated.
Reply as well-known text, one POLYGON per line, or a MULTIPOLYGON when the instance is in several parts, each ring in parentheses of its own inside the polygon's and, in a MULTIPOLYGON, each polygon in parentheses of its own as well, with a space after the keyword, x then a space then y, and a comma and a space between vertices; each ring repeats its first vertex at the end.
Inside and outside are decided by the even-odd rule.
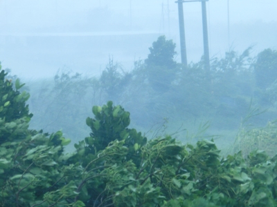
POLYGON ((202 25, 203 25, 203 43, 204 43, 204 63, 206 71, 210 70, 210 55, 208 51, 208 26, 207 26, 207 12, 206 0, 202 0, 202 25))

